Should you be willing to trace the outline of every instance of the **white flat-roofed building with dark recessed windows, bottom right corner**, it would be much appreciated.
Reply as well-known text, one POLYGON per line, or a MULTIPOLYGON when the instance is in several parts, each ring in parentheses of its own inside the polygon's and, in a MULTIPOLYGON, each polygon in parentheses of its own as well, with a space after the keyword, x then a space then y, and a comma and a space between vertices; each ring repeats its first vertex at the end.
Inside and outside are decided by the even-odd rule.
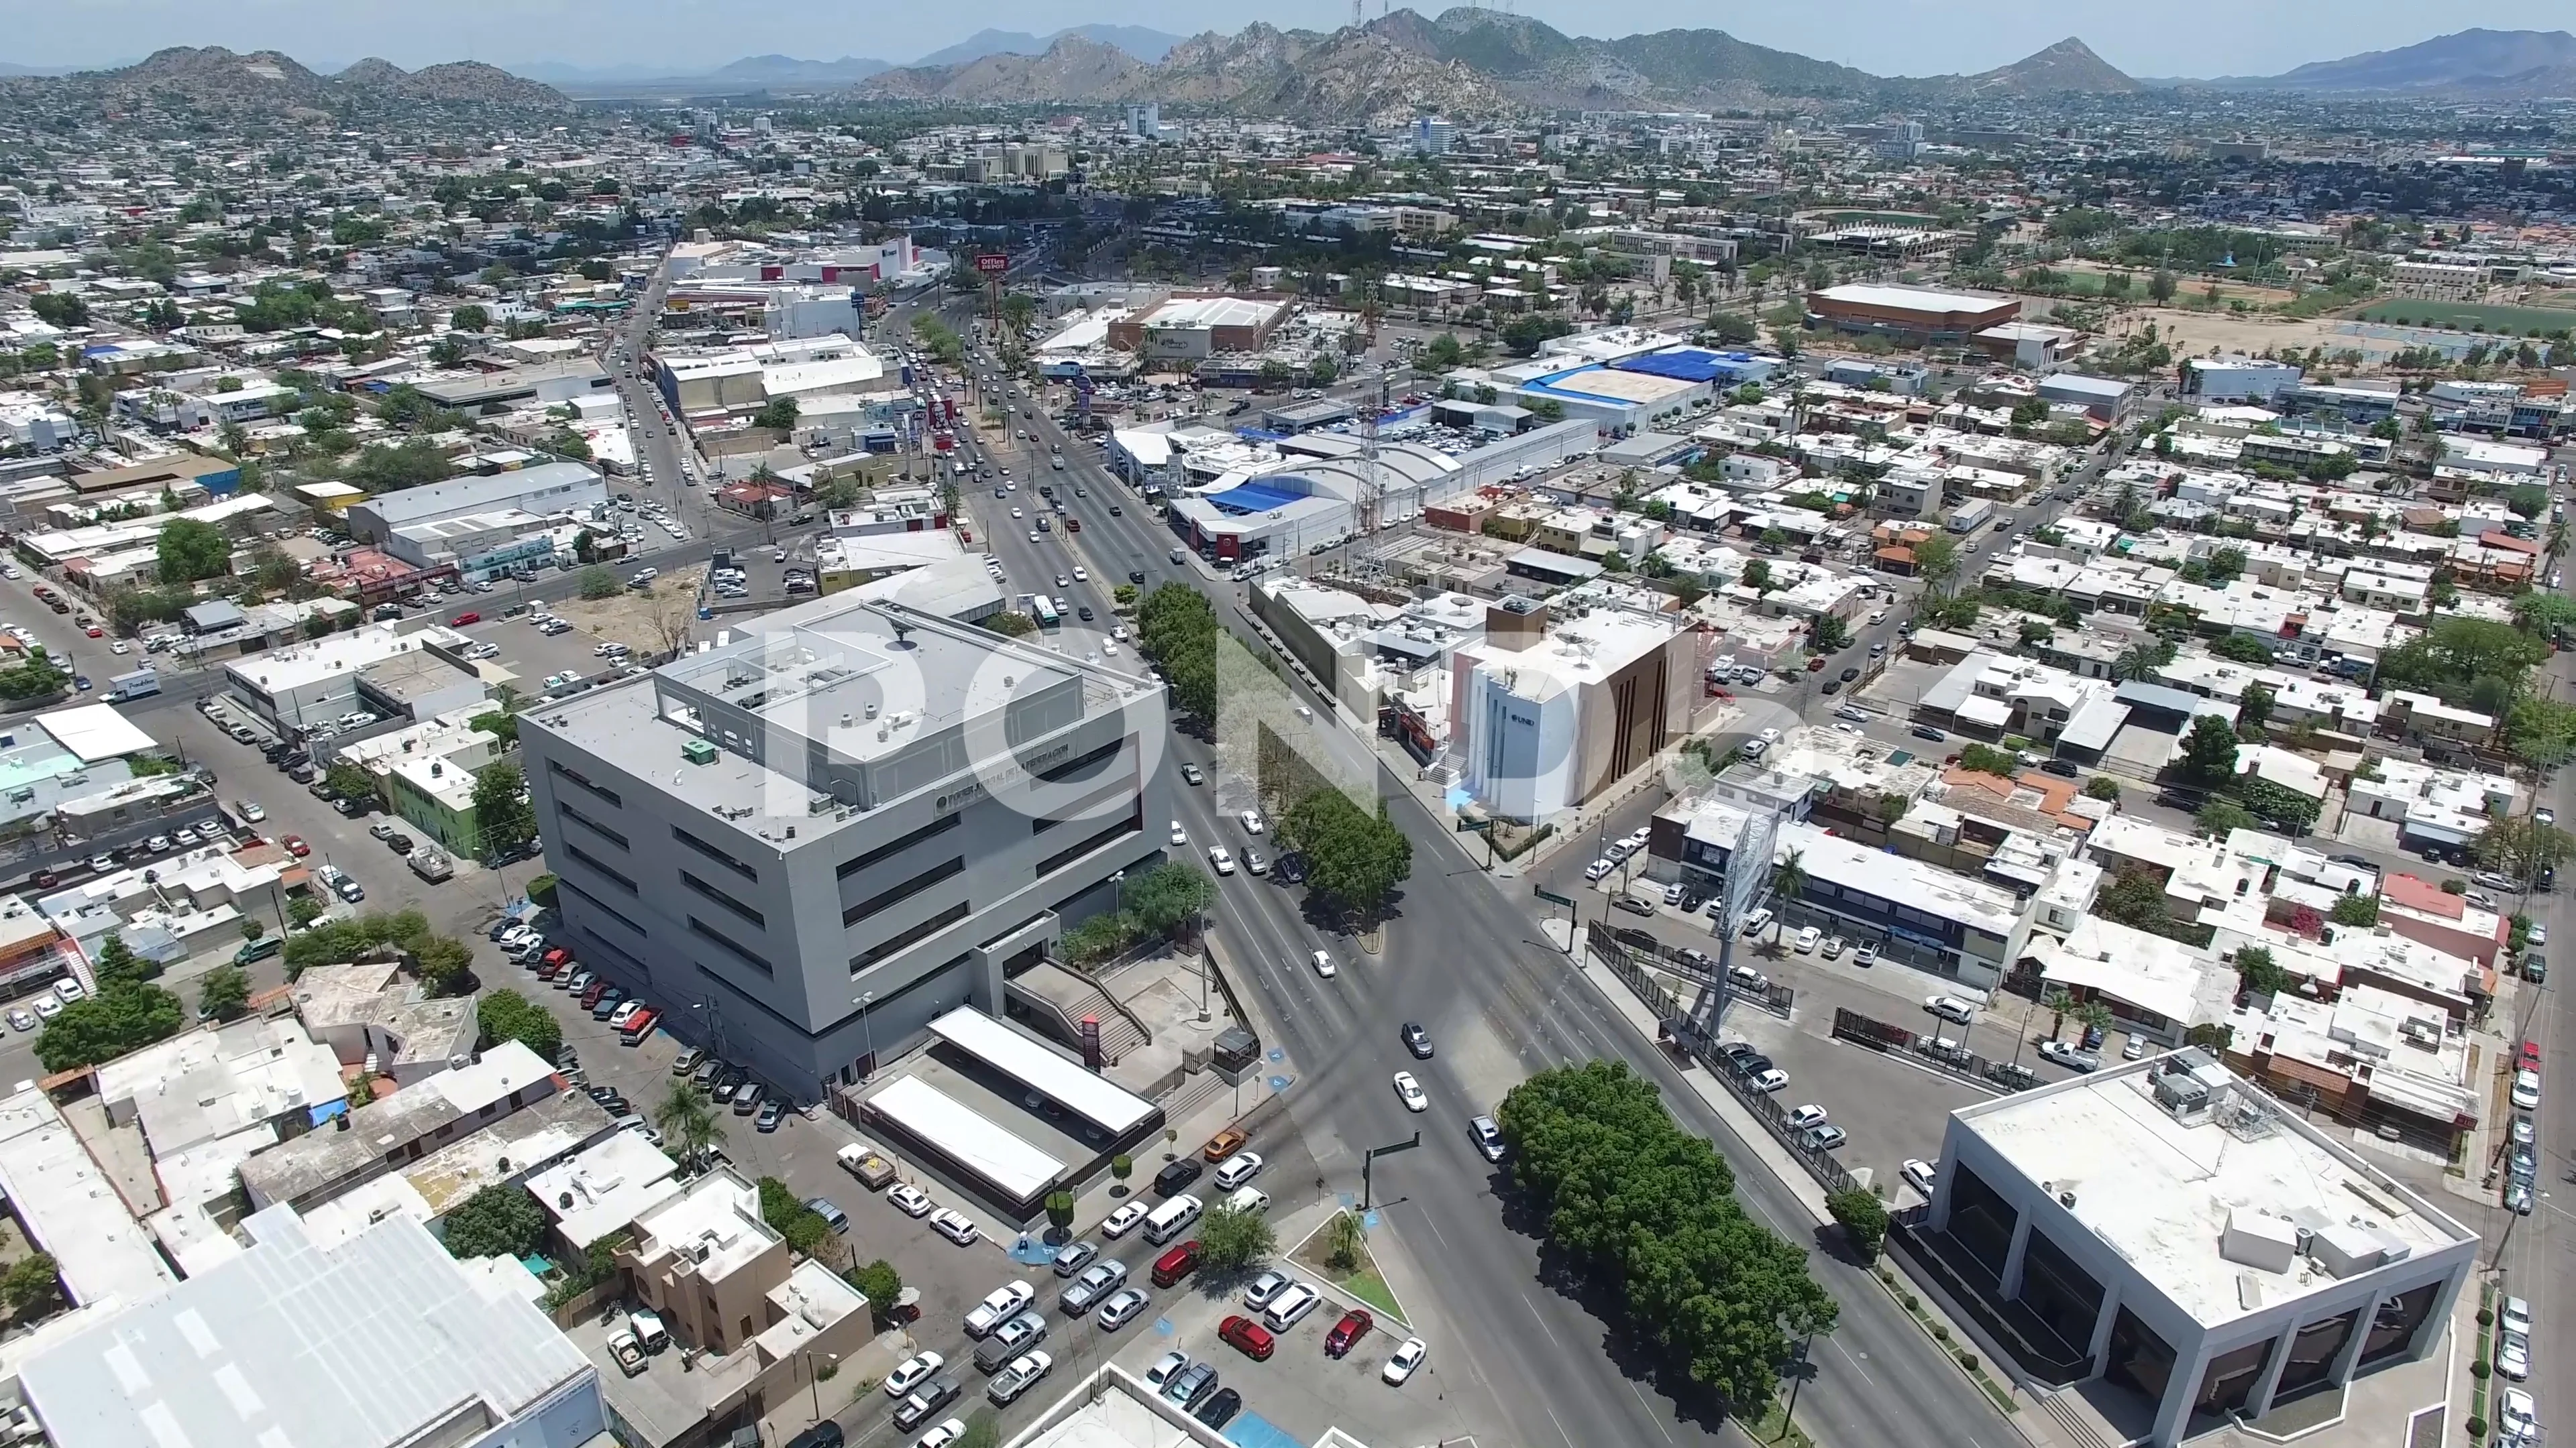
POLYGON ((2434 1353, 2478 1255, 2197 1049, 1950 1113, 1927 1229, 2156 1448, 2434 1353))

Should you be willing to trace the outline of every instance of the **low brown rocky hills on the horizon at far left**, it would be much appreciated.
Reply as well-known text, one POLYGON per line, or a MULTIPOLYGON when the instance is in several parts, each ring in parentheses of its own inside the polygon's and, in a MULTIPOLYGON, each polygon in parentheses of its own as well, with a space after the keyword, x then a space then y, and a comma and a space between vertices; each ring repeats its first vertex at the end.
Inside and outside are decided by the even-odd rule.
POLYGON ((402 70, 361 59, 340 75, 317 75, 278 52, 237 54, 224 46, 173 46, 124 70, 0 80, 0 103, 173 108, 193 113, 260 113, 330 119, 399 106, 564 108, 562 93, 505 70, 456 62, 402 70))

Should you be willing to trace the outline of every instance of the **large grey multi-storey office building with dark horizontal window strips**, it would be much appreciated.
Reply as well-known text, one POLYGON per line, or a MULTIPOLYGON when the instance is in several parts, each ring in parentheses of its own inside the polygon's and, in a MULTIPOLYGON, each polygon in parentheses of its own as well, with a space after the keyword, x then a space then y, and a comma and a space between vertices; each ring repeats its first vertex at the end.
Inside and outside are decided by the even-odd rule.
POLYGON ((822 598, 520 719, 574 953, 814 1100, 1164 858, 1162 685, 822 598))

